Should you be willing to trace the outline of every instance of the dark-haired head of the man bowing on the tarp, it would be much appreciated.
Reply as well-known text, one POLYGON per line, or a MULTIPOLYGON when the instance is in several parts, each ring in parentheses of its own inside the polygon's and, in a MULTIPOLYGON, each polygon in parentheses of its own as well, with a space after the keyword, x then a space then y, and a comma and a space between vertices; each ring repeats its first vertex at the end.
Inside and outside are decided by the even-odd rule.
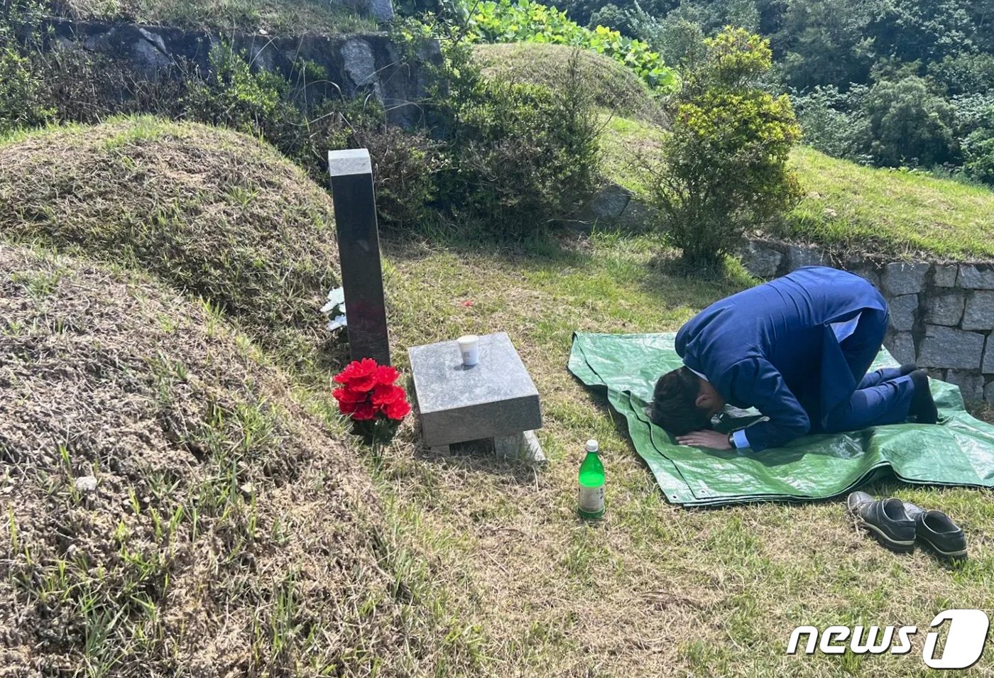
POLYGON ((725 407, 725 399, 706 380, 686 367, 667 372, 656 382, 647 415, 674 435, 708 428, 725 407))

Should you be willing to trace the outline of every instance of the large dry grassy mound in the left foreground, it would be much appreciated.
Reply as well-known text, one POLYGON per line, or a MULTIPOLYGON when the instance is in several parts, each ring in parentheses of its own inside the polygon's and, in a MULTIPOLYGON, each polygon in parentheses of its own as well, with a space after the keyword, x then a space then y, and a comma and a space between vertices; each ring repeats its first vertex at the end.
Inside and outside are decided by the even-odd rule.
POLYGON ((365 675, 410 649, 369 476, 288 394, 205 304, 0 245, 0 665, 365 675))

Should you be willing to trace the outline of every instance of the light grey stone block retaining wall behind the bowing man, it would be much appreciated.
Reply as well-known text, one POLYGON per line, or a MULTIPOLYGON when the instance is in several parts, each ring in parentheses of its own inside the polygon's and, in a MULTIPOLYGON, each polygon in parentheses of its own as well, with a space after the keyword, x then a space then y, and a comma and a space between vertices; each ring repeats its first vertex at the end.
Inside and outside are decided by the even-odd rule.
POLYGON ((754 241, 745 267, 763 278, 804 265, 834 265, 873 283, 891 304, 885 342, 902 363, 959 386, 966 400, 994 405, 994 263, 843 260, 817 248, 754 241))

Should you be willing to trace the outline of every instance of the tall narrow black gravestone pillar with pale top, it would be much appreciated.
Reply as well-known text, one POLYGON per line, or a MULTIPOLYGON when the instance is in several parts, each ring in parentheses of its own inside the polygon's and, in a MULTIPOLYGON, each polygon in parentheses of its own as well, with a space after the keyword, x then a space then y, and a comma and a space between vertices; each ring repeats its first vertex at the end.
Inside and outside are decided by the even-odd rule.
POLYGON ((390 365, 369 151, 365 148, 329 151, 328 171, 342 262, 349 353, 353 360, 373 358, 381 365, 390 365))

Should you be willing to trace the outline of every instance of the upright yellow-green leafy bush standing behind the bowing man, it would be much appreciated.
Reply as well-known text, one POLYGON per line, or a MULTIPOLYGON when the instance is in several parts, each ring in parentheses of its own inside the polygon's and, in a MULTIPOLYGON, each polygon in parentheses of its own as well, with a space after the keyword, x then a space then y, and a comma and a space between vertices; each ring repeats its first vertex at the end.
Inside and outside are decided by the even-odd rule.
POLYGON ((727 28, 706 46, 706 60, 674 101, 663 160, 647 167, 647 184, 685 261, 713 266, 746 231, 796 203, 786 162, 800 129, 787 97, 756 85, 770 66, 766 41, 727 28))

